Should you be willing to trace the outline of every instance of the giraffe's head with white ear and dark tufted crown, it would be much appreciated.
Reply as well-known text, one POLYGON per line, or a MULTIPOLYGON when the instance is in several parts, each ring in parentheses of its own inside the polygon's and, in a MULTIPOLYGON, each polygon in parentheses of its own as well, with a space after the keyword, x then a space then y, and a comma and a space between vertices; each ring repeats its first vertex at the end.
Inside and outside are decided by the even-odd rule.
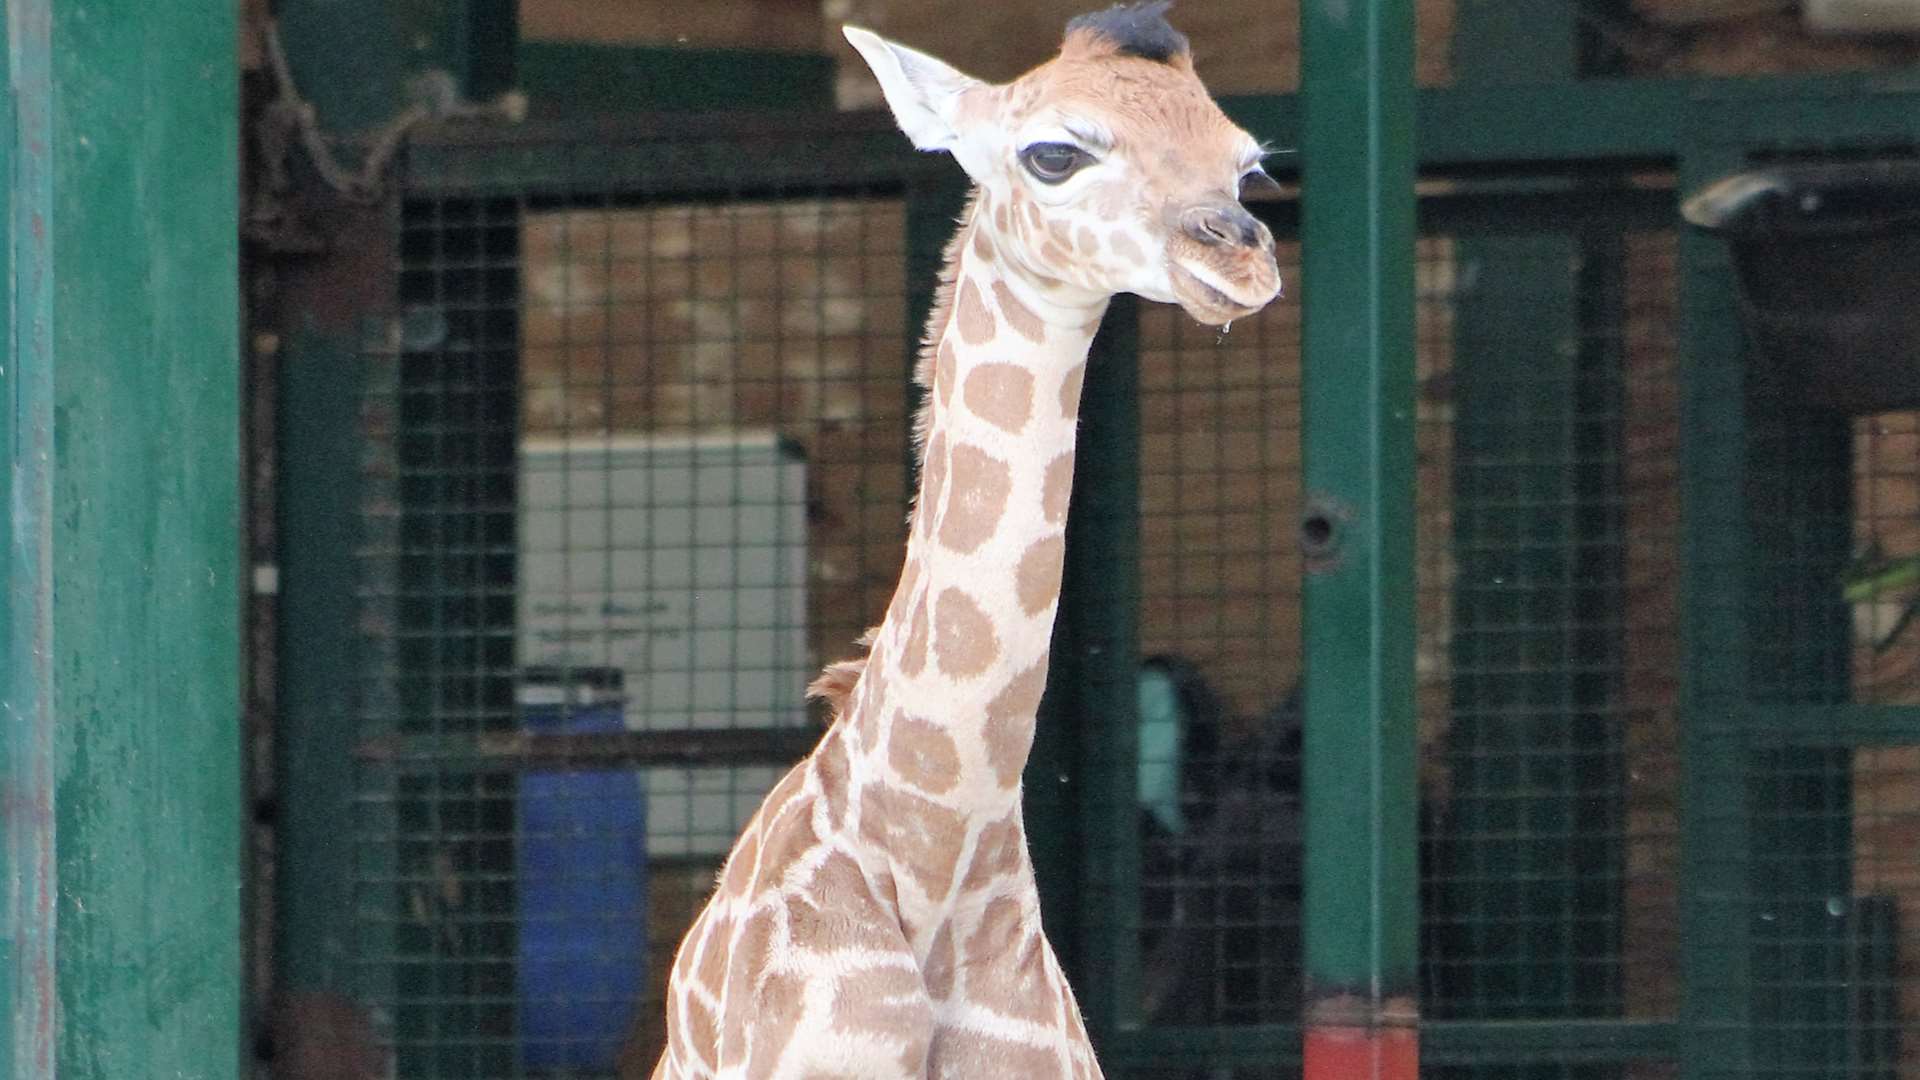
POLYGON ((1273 234, 1240 206, 1271 184, 1263 150, 1194 75, 1165 0, 1068 23, 1060 54, 991 85, 847 27, 922 150, 945 150, 981 192, 1004 261, 1043 286, 1133 292, 1202 323, 1281 290, 1273 234))

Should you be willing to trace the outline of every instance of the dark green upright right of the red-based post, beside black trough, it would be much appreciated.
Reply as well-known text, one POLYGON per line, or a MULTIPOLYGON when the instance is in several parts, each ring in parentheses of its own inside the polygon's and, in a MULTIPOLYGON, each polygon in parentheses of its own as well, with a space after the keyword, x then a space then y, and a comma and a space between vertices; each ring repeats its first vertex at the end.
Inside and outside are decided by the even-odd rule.
MULTIPOLYGON (((1682 190, 1740 169, 1738 150, 1682 160, 1682 190)), ((1753 849, 1749 757, 1709 723, 1743 709, 1749 678, 1743 329, 1726 248, 1680 236, 1680 942, 1682 1074, 1751 1076, 1753 849)))

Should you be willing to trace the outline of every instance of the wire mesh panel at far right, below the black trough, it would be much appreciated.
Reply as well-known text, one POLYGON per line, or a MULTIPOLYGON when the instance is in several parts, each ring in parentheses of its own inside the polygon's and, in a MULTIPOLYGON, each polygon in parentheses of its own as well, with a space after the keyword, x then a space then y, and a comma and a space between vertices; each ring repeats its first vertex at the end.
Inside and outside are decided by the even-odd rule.
POLYGON ((1920 421, 1757 382, 1745 1034, 1770 1076, 1920 1076, 1920 421))

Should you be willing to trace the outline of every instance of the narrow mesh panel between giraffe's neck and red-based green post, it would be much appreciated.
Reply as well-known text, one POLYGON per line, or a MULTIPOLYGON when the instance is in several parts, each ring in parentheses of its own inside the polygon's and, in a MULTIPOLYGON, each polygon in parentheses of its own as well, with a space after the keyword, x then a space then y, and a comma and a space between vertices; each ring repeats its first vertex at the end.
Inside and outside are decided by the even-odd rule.
MULTIPOLYGON (((1298 244, 1283 242, 1283 281, 1298 244)), ((1300 1001, 1300 307, 1140 307, 1140 1015, 1300 1001)))

